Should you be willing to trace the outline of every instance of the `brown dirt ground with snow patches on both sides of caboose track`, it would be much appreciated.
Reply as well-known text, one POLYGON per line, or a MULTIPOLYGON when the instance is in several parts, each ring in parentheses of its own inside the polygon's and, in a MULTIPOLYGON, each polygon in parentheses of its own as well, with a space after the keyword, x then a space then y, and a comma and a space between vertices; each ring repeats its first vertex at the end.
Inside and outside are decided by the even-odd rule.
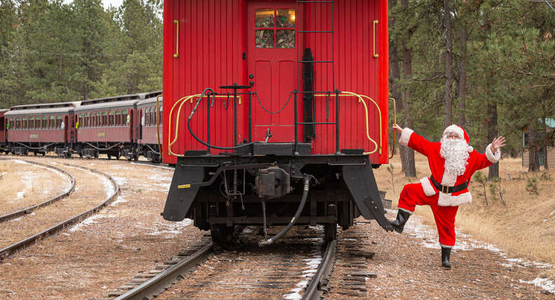
MULTIPOLYGON (((68 162, 51 158, 50 161, 68 162)), ((201 231, 187 221, 175 224, 163 221, 160 216, 172 170, 126 161, 79 163, 112 175, 121 186, 121 196, 95 217, 1 261, 0 299, 102 298, 108 290, 125 284, 138 273, 151 270, 201 238, 201 231)), ((400 165, 395 166, 395 163, 393 161, 395 189, 391 189, 391 175, 385 166, 377 170, 376 177, 380 189, 387 189, 387 186, 391 189, 387 198, 396 201, 407 180, 400 172, 400 165)), ((425 161, 419 158, 417 164, 420 165, 417 167, 419 176, 425 176, 425 161)), ((507 177, 505 172, 502 168, 502 177, 507 177)), ((417 179, 410 180, 416 182, 417 179)), ((516 185, 521 189, 522 182, 519 184, 516 185)), ((543 193, 550 191, 543 182, 540 188, 543 193)), ((473 205, 483 205, 483 200, 475 199, 473 205)), ((510 199, 507 196, 507 203, 517 206, 516 200, 510 199)), ((497 206, 495 203, 489 209, 495 208, 497 212, 501 209, 497 206)), ((476 215, 481 217, 481 214, 476 215)), ((394 212, 387 217, 393 219, 394 212)), ((368 270, 377 274, 377 278, 366 281, 368 298, 555 298, 555 294, 533 284, 534 281, 543 282, 545 277, 549 279, 553 266, 529 263, 543 260, 517 255, 518 252, 507 250, 494 243, 495 240, 483 240, 487 237, 485 234, 476 236, 470 232, 472 230, 457 229, 457 247, 451 258, 453 270, 443 271, 435 225, 429 217, 425 208, 417 211, 403 234, 386 233, 375 222, 361 225, 370 236, 366 250, 376 253, 368 260, 368 270), (519 259, 521 257, 523 259, 519 259)), ((464 217, 457 219, 457 226, 466 224, 461 219, 464 217)), ((516 213, 512 219, 518 220, 516 213)), ((487 219, 476 220, 489 224, 487 219)), ((514 228, 519 226, 526 227, 515 225, 514 228)), ((522 252, 526 252, 526 247, 533 246, 522 245, 522 252)), ((337 295, 328 296, 337 299, 337 295)))

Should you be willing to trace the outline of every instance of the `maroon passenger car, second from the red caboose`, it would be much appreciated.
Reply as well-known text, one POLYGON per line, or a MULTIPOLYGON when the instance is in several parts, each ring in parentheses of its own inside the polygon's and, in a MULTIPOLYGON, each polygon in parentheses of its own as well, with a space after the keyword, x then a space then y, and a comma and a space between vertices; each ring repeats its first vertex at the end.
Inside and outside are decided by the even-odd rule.
POLYGON ((140 95, 105 97, 81 102, 75 110, 79 118, 79 145, 76 153, 88 158, 107 154, 138 160, 134 139, 134 118, 140 95))

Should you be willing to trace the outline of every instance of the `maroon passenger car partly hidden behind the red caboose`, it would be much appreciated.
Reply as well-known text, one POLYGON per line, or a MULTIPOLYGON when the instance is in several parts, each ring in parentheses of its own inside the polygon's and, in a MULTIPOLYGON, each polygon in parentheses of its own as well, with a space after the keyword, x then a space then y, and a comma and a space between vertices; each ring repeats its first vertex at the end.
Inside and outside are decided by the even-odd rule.
POLYGON ((161 162, 159 142, 162 139, 162 99, 159 97, 158 118, 156 119, 156 97, 162 91, 141 94, 142 100, 137 103, 138 118, 135 121, 139 125, 137 142, 139 153, 154 163, 161 162), (158 122, 159 126, 156 125, 158 122))

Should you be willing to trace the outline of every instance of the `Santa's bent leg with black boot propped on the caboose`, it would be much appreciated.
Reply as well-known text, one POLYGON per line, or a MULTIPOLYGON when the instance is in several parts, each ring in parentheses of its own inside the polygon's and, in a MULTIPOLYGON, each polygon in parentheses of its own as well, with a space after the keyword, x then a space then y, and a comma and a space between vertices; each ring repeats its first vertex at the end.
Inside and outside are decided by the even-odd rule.
POLYGON ((403 232, 406 221, 410 214, 413 214, 416 205, 432 205, 437 203, 437 198, 437 195, 426 196, 421 184, 407 184, 404 186, 397 205, 399 212, 397 212, 395 221, 392 222, 395 231, 403 232))

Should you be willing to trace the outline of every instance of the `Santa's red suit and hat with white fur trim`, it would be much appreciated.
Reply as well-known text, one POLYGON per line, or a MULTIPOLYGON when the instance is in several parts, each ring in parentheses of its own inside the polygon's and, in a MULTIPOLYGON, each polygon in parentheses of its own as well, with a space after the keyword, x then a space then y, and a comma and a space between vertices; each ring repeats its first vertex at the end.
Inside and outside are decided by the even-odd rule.
POLYGON ((429 205, 432 207, 439 233, 439 243, 442 247, 453 247, 455 245, 455 216, 459 208, 458 205, 472 202, 472 195, 467 187, 462 189, 462 191, 453 193, 448 193, 446 188, 460 186, 460 184, 464 186, 464 183, 469 184, 476 170, 489 167, 499 161, 501 156, 499 150, 493 154, 490 149, 491 144, 486 147, 486 154, 480 154, 472 149, 472 146, 468 146, 469 136, 467 132, 457 125, 450 125, 446 128, 443 132, 444 139, 448 133, 455 133, 460 139, 464 138, 466 141, 465 147, 468 152, 468 158, 466 166, 463 166, 464 169, 460 170, 462 175, 453 174, 453 171, 448 172, 446 170, 446 159, 440 153, 441 142, 429 142, 409 128, 403 129, 399 139, 399 144, 409 146, 415 151, 420 152, 420 154, 427 156, 429 168, 432 170, 432 177, 440 185, 440 189, 445 191, 444 193, 436 188, 430 177, 420 179, 419 184, 407 184, 399 197, 399 210, 412 214, 415 210, 415 205, 429 205))

